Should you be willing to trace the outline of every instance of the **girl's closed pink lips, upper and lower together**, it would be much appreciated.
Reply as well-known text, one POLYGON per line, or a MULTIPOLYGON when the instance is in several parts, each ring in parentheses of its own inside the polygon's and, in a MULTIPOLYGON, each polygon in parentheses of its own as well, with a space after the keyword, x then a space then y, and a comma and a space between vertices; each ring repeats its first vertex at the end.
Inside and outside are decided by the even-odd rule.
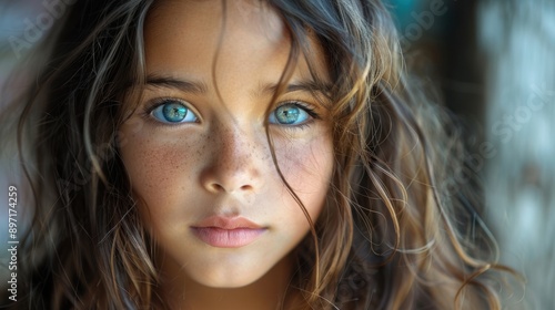
POLYGON ((191 227, 194 236, 218 248, 239 248, 258 239, 266 230, 243 217, 211 216, 191 227))

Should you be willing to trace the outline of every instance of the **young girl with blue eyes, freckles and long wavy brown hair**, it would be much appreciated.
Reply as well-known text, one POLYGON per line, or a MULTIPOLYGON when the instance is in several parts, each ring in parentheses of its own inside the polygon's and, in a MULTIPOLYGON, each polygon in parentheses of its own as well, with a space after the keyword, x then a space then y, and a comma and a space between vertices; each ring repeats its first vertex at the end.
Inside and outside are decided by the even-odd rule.
POLYGON ((9 306, 501 308, 381 1, 60 3, 3 114, 34 197, 9 306))

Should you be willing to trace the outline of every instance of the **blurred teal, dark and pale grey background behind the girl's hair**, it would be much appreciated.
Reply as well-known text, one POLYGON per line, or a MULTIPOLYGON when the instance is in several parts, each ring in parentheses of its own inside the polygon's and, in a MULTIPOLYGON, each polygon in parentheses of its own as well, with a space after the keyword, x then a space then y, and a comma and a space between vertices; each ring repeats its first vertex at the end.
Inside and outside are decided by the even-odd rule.
MULTIPOLYGON (((59 17, 42 0, 0 1, 2 83, 59 17)), ((502 262, 527 278, 509 309, 555 309, 555 1, 384 1, 407 63, 467 130, 471 169, 483 179, 482 216, 502 262)), ((6 188, 19 178, 10 163, 0 163, 0 173, 7 202, 6 188)), ((0 244, 7 208, 0 204, 0 244)))

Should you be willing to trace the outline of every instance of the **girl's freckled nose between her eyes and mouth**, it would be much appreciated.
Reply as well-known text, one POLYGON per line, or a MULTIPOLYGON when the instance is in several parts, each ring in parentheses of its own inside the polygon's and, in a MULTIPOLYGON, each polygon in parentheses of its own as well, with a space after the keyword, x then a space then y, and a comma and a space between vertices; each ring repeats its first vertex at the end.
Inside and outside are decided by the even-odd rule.
MULTIPOLYGON (((265 136, 265 135, 264 135, 265 136)), ((263 183, 261 162, 263 149, 260 136, 239 128, 219 126, 208 138, 208 163, 201 170, 200 182, 210 193, 249 193, 263 183)))

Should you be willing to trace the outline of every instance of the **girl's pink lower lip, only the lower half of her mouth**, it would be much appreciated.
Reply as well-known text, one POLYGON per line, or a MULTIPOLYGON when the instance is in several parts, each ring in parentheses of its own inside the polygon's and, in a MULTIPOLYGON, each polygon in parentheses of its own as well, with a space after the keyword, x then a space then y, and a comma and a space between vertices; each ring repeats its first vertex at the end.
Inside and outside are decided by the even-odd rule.
POLYGON ((193 227, 192 231, 196 238, 212 247, 240 248, 256 240, 262 234, 264 234, 265 229, 193 227))

